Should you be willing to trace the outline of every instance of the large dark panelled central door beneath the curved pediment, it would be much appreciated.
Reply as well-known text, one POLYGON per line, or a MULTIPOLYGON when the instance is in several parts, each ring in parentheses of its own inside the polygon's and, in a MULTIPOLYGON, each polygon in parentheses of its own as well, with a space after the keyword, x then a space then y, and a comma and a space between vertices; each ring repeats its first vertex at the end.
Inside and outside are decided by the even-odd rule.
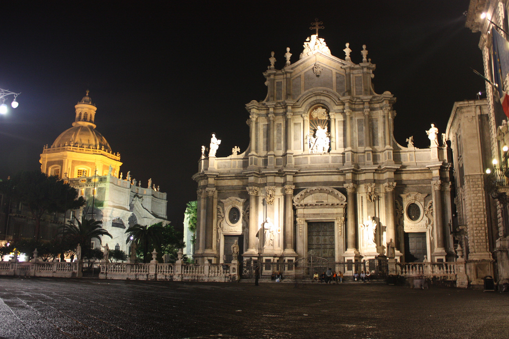
POLYGON ((334 262, 334 222, 307 223, 307 250, 313 250, 317 257, 334 262))

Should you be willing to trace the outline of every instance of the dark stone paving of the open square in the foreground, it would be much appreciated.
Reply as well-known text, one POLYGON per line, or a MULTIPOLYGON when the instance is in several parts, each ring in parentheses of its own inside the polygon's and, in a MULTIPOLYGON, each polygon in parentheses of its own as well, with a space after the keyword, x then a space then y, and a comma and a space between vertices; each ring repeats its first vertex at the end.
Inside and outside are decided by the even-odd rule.
POLYGON ((509 293, 0 278, 0 338, 507 338, 509 293))

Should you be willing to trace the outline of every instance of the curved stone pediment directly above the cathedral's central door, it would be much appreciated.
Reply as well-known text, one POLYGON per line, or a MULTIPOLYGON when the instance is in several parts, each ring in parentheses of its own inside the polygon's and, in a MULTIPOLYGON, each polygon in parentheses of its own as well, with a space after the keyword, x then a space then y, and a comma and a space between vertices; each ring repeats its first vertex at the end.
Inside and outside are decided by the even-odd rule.
POLYGON ((305 206, 332 207, 345 206, 346 201, 345 195, 340 191, 330 187, 317 186, 298 193, 293 199, 293 204, 297 208, 305 206))

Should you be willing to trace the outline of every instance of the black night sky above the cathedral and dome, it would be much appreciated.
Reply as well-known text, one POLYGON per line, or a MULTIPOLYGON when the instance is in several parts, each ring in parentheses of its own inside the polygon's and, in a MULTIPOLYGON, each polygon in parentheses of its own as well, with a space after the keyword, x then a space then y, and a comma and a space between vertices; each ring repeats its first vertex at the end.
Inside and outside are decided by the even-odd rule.
MULTIPOLYGON (((0 117, 0 178, 40 168, 74 121, 87 89, 97 130, 121 153, 125 174, 168 193, 168 219, 181 227, 196 199, 201 145, 217 156, 248 145, 245 104, 263 100, 263 72, 286 47, 298 60, 316 17, 333 55, 376 64, 375 91, 397 97, 395 137, 429 146, 455 101, 475 99, 484 81, 479 33, 465 27, 468 0, 385 1, 11 1, 0 10, 0 88, 21 92, 0 117), (178 5, 175 5, 178 4, 178 5)), ((484 95, 482 95, 484 97, 484 95)), ((9 98, 9 103, 12 99, 9 98)))

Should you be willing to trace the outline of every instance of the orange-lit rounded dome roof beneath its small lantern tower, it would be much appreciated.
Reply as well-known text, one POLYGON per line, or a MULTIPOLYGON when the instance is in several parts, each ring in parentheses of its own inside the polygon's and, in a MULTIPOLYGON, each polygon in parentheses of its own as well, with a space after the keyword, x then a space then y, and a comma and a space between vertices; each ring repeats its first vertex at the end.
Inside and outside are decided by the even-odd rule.
POLYGON ((106 138, 96 131, 92 126, 77 125, 65 130, 58 138, 55 139, 52 147, 60 147, 64 145, 102 149, 111 152, 106 138))

